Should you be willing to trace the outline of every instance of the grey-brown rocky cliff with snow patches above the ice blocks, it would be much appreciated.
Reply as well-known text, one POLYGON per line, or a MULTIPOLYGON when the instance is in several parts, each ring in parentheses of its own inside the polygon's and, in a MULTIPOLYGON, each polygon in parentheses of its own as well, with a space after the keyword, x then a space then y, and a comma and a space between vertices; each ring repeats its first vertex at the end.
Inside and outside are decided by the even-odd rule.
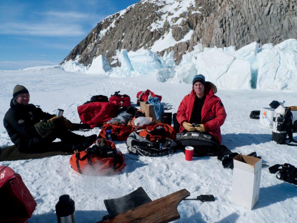
POLYGON ((116 50, 148 48, 159 55, 173 50, 178 64, 198 42, 238 49, 289 38, 297 39, 296 0, 143 0, 98 23, 64 61, 79 58, 87 66, 102 54, 119 66, 116 50))

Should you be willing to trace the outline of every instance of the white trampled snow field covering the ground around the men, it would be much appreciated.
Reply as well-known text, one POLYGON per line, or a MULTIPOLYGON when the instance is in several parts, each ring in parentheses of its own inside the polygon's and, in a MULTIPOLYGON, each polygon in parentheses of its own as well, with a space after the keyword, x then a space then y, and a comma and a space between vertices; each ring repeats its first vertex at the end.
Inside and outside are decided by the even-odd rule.
MULTIPOLYGON (((208 77, 206 77, 208 78, 208 77)), ((162 83, 154 75, 131 78, 110 78, 92 74, 69 73, 62 69, 0 71, 0 118, 9 108, 12 89, 23 84, 29 89, 31 103, 40 105, 43 111, 56 113, 64 109, 64 115, 78 123, 77 106, 92 95, 109 96, 120 90, 131 97, 136 106, 136 93, 150 89, 162 95, 162 102, 173 105, 168 112, 176 112, 191 84, 162 83)), ((256 151, 268 165, 290 163, 296 166, 294 147, 277 145, 271 141, 271 129, 249 118, 252 110, 267 107, 272 100, 285 100, 285 105, 297 105, 296 91, 267 92, 255 89, 218 89, 227 119, 221 127, 223 144, 233 152, 248 154, 256 151)), ((100 128, 77 134, 99 134, 100 128)), ((0 125, 0 146, 12 145, 0 125)), ((296 137, 296 135, 294 135, 296 137)), ((182 201, 178 205, 181 215, 175 222, 296 222, 296 186, 278 180, 262 169, 260 197, 252 210, 230 202, 232 170, 224 169, 216 157, 197 157, 185 161, 177 152, 162 157, 142 157, 128 154, 125 142, 115 142, 122 153, 140 161, 126 159, 123 173, 112 177, 80 175, 69 165, 70 156, 54 156, 41 159, 5 161, 19 173, 37 202, 29 220, 56 222, 55 205, 62 194, 69 194, 75 201, 77 222, 96 222, 107 214, 103 200, 121 197, 142 186, 152 200, 180 189, 191 192, 190 197, 214 194, 215 202, 182 201)))

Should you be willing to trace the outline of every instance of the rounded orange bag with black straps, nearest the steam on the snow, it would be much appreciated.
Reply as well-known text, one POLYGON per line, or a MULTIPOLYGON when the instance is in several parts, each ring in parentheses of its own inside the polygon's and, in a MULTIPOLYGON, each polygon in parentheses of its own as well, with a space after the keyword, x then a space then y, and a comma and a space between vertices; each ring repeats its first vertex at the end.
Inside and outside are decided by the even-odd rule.
MULTIPOLYGON (((102 139, 97 139, 96 142, 99 140, 102 139)), ((104 142, 107 146, 111 147, 113 155, 110 157, 100 156, 86 151, 75 153, 69 160, 72 169, 80 174, 90 176, 115 175, 116 172, 123 169, 126 166, 124 155, 116 150, 116 146, 112 141, 104 140, 104 142)))

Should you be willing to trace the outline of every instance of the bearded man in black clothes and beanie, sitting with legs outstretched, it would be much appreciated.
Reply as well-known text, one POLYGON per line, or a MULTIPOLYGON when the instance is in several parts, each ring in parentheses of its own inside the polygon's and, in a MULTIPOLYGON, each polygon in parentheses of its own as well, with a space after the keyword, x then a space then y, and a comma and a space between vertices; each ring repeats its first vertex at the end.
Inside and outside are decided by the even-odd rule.
POLYGON ((21 152, 73 151, 96 140, 96 135, 85 137, 72 133, 69 131, 72 124, 67 119, 43 112, 29 104, 29 100, 26 87, 16 85, 3 120, 11 141, 21 152), (62 144, 52 143, 56 138, 61 139, 62 144))

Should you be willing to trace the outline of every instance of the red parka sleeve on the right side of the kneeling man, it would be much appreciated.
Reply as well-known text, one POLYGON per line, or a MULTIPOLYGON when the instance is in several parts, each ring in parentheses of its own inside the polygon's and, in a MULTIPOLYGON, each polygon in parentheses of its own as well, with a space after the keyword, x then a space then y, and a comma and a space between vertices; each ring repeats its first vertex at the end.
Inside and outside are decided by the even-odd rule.
POLYGON ((216 110, 216 117, 214 119, 209 120, 208 122, 204 123, 204 127, 206 131, 211 131, 213 129, 219 128, 222 126, 225 122, 225 119, 227 117, 225 108, 221 102, 221 100, 218 100, 215 103, 215 110, 216 110))

